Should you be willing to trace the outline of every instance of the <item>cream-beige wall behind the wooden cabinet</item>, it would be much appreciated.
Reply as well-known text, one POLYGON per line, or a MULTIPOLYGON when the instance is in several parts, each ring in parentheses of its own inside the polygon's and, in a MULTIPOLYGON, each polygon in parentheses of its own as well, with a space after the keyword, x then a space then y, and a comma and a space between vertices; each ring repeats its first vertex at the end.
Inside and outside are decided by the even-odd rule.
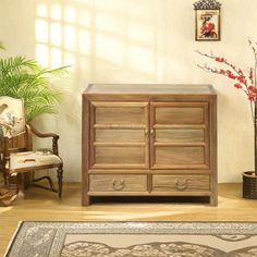
MULTIPOLYGON (((253 169, 248 102, 224 77, 196 68, 195 49, 225 56, 248 69, 247 37, 257 40, 257 0, 223 0, 220 42, 194 40, 192 0, 1 0, 4 56, 72 64, 61 85, 61 114, 36 121, 61 135, 65 180, 81 180, 81 94, 90 83, 209 83, 218 91, 219 182, 253 169), (36 32, 35 32, 36 27, 36 32), (48 29, 48 30, 47 30, 48 29)), ((205 60, 203 60, 205 62, 205 60)), ((209 61, 208 61, 209 62, 209 61)))

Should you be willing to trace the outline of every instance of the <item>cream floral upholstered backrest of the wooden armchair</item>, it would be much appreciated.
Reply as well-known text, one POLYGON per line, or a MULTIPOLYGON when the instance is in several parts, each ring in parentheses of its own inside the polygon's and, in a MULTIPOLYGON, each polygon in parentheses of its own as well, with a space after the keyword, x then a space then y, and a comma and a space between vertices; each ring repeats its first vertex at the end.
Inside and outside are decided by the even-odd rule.
POLYGON ((0 97, 0 136, 14 137, 26 131, 22 99, 0 97))

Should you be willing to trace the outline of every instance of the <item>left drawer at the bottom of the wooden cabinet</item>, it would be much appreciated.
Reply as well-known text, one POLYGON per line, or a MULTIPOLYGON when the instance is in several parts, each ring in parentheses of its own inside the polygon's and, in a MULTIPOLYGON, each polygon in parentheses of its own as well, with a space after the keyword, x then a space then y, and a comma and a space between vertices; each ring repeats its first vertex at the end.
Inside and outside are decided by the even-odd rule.
POLYGON ((146 174, 89 175, 89 192, 147 192, 146 174))

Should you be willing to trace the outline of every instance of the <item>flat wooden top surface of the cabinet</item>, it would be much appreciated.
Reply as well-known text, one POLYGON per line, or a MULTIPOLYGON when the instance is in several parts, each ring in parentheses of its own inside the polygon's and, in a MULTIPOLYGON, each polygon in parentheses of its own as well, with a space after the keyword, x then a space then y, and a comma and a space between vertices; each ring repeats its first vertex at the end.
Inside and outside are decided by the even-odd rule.
POLYGON ((192 84, 90 84, 86 95, 216 95, 211 85, 192 84))

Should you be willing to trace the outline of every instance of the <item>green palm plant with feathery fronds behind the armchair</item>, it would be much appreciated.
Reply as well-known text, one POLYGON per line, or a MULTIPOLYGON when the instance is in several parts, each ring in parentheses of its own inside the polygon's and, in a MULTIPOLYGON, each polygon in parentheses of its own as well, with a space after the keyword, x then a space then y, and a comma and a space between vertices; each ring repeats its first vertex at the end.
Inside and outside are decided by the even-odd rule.
MULTIPOLYGON (((0 48, 4 49, 1 42, 0 48)), ((0 59, 0 96, 22 98, 27 122, 44 113, 54 114, 62 93, 52 87, 52 79, 65 72, 66 66, 44 69, 24 57, 0 59)))

